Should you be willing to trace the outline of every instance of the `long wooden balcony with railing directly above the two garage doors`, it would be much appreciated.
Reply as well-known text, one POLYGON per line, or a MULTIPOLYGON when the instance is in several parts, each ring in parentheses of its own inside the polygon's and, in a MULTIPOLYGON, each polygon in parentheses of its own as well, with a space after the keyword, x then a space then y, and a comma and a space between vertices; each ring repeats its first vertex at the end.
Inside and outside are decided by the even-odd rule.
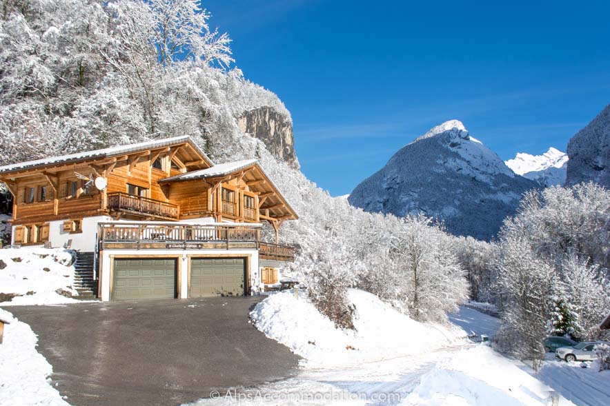
POLYGON ((99 223, 100 249, 256 250, 259 228, 247 225, 99 223))

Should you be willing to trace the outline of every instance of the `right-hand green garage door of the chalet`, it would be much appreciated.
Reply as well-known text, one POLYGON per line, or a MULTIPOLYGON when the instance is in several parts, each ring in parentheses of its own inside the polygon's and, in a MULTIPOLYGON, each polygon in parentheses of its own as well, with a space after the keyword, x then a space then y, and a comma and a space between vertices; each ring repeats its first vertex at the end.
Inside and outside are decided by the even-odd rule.
POLYGON ((193 258, 190 261, 190 297, 244 294, 244 258, 193 258))

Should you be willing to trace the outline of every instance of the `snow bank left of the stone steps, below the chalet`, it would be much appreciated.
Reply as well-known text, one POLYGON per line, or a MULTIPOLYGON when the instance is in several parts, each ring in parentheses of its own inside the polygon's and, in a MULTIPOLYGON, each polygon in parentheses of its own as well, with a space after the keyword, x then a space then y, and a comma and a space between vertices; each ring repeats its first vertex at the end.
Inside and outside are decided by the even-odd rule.
POLYGON ((0 261, 0 294, 21 295, 0 302, 0 306, 79 302, 56 292, 78 294, 72 289, 72 252, 61 248, 10 248, 0 250, 0 261))

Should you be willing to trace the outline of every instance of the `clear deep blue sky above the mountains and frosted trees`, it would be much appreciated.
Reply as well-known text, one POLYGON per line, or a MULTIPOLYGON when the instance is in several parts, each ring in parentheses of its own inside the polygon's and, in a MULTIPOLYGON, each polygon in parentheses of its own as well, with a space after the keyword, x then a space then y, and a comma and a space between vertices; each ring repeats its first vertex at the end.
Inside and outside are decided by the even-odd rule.
POLYGON ((302 170, 346 194, 449 119, 504 160, 565 150, 610 103, 610 1, 204 1, 291 111, 302 170))

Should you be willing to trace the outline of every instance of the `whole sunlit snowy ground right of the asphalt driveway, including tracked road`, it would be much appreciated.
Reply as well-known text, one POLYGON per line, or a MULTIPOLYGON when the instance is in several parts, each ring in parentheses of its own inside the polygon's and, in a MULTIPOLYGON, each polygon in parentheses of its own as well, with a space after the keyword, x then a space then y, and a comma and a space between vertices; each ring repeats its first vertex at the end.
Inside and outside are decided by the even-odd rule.
MULTIPOLYGON (((357 311, 356 333, 333 332, 306 296, 271 295, 252 316, 265 334, 307 358, 302 371, 295 378, 231 389, 192 405, 550 404, 551 389, 520 363, 462 338, 462 328, 493 336, 498 319, 462 307, 451 315, 462 328, 429 326, 366 292, 351 290, 349 298, 357 311), (346 343, 358 349, 343 351, 346 343)), ((571 403, 562 399, 559 405, 571 403)))

